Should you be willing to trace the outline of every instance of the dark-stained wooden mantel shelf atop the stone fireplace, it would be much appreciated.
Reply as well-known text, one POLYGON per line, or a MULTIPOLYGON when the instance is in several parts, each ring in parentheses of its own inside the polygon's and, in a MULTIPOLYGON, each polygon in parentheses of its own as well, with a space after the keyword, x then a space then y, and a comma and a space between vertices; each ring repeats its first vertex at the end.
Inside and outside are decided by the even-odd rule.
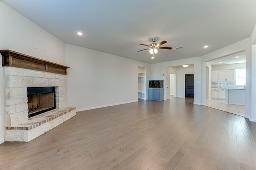
POLYGON ((36 57, 11 50, 0 50, 2 66, 12 66, 31 70, 46 71, 57 74, 67 74, 68 66, 52 63, 36 57))

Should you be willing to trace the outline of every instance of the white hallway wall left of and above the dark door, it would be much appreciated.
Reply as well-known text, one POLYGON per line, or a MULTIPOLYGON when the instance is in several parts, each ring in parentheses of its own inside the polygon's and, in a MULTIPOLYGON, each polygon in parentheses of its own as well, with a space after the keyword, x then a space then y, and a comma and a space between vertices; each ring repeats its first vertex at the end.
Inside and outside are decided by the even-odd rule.
MULTIPOLYGON (((183 66, 177 67, 176 81, 177 81, 177 90, 176 97, 185 98, 185 74, 194 74, 193 64, 184 68, 183 66)), ((195 84, 196 82, 194 82, 195 84)))

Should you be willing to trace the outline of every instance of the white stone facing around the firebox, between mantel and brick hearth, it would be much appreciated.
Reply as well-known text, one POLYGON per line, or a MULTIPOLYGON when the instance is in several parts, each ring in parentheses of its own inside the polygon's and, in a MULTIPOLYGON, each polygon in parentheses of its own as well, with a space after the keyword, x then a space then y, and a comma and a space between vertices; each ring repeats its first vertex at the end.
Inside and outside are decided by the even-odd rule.
POLYGON ((56 109, 66 107, 66 76, 37 70, 4 67, 5 126, 28 120, 27 87, 56 87, 56 109))

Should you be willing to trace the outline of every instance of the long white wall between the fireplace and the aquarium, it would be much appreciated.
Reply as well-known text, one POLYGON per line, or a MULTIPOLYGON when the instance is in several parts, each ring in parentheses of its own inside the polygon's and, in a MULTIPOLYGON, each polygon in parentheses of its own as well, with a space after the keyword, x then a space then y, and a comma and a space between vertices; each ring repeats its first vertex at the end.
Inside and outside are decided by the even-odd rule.
POLYGON ((150 64, 70 44, 66 63, 67 105, 77 111, 138 101, 138 66, 146 69, 148 87, 150 64))

